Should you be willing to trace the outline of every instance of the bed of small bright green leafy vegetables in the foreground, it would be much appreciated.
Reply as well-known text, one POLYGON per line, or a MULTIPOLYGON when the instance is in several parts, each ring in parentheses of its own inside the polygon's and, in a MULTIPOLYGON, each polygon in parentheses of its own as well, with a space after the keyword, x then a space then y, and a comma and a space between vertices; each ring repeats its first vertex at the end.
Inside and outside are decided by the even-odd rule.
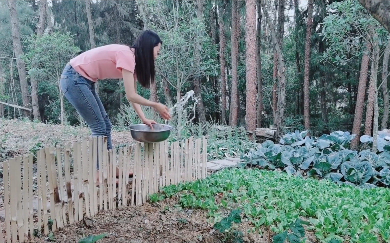
POLYGON ((390 211, 384 210, 390 190, 384 187, 366 189, 240 168, 164 187, 161 195, 178 196, 183 208, 207 210, 213 222, 222 222, 216 227, 225 229, 229 220, 222 221, 224 209, 241 208, 241 221, 252 224, 252 232, 269 227, 277 235, 287 230, 290 242, 298 242, 298 238, 304 242, 308 231, 314 232, 318 242, 390 240, 390 211))

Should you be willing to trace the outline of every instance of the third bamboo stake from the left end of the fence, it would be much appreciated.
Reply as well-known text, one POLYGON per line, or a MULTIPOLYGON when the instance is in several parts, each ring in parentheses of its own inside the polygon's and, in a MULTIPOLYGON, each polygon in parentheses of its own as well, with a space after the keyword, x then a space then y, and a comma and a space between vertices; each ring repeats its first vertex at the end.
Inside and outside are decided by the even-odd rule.
POLYGON ((23 201, 22 201, 22 190, 21 190, 21 177, 20 177, 20 163, 21 156, 16 157, 14 171, 12 172, 13 176, 10 177, 12 180, 12 184, 14 184, 15 194, 17 196, 16 202, 16 219, 18 222, 18 236, 19 241, 24 242, 24 224, 23 224, 23 201))

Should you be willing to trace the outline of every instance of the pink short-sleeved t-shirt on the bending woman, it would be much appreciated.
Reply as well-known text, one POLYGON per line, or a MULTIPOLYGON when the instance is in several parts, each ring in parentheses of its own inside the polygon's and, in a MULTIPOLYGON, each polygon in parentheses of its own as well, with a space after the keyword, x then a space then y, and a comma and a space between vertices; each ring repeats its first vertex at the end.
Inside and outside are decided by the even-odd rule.
POLYGON ((122 68, 135 73, 134 52, 127 45, 120 44, 90 49, 72 58, 70 64, 76 72, 94 82, 98 79, 122 79, 122 68))

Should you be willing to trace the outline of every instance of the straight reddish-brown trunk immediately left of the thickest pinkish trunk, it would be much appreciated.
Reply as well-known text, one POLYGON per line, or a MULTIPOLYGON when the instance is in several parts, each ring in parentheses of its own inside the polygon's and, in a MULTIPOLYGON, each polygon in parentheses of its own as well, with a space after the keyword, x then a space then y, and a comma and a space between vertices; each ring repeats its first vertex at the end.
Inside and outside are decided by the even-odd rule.
POLYGON ((239 27, 240 17, 238 11, 238 1, 232 2, 232 92, 230 98, 230 116, 229 125, 232 127, 237 126, 238 122, 238 38, 239 38, 239 27))

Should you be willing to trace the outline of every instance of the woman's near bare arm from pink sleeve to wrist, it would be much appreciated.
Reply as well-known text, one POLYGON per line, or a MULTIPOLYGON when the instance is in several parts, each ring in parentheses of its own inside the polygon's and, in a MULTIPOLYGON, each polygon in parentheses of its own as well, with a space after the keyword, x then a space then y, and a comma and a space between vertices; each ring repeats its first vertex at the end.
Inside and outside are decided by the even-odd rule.
MULTIPOLYGON (((149 107, 155 108, 156 105, 158 105, 157 102, 153 102, 150 100, 145 99, 144 97, 137 94, 137 91, 135 90, 135 80, 132 72, 129 72, 126 69, 122 68, 122 75, 123 75, 123 85, 124 85, 124 91, 126 92, 126 98, 131 103, 136 103, 138 105, 145 105, 149 107)), ((134 107, 134 105, 133 105, 134 107)), ((139 107, 141 108, 141 107, 139 107)), ((134 109, 136 109, 134 107, 134 109)), ((137 110, 136 110, 137 112, 137 110)), ((138 112, 137 112, 138 114, 138 112)))

